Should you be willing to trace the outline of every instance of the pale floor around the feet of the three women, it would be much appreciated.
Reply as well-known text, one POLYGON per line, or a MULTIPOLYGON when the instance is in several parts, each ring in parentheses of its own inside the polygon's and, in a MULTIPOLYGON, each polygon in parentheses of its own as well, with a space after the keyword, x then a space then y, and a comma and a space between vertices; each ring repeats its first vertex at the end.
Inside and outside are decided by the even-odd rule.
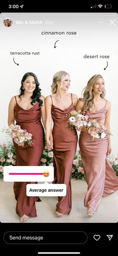
MULTIPOLYGON (((61 217, 55 215, 57 197, 41 197, 42 202, 36 202, 36 218, 29 218, 28 222, 117 222, 118 220, 118 191, 102 198, 98 211, 93 217, 86 216, 86 208, 83 205, 87 185, 82 180, 71 180, 72 185, 72 209, 69 215, 61 217)), ((15 213, 16 201, 13 194, 13 183, 0 180, 0 221, 19 222, 15 213)))

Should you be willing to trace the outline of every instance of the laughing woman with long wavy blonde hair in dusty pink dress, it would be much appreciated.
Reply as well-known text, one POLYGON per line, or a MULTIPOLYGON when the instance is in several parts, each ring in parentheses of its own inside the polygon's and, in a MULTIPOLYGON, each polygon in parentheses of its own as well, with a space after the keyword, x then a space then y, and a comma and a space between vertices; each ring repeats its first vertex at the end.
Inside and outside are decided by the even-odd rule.
MULTIPOLYGON (((104 98, 104 80, 101 75, 92 76, 76 105, 76 111, 81 110, 91 119, 106 126, 110 131, 110 102, 104 98)), ((83 170, 88 185, 84 198, 87 215, 93 216, 97 211, 101 197, 108 196, 118 189, 118 180, 109 165, 106 155, 111 153, 110 136, 91 140, 87 130, 82 130, 79 136, 79 148, 83 170)))

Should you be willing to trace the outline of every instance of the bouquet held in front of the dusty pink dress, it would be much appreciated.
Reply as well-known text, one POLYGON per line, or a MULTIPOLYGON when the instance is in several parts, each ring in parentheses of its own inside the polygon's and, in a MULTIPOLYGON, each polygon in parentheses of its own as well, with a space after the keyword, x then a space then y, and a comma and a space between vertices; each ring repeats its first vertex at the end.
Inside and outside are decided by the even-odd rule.
POLYGON ((90 119, 84 113, 80 114, 80 110, 78 112, 75 110, 69 112, 68 123, 70 129, 75 128, 77 131, 80 131, 83 127, 84 129, 86 128, 92 140, 103 139, 106 134, 111 135, 106 132, 106 127, 102 123, 98 123, 95 119, 90 119))

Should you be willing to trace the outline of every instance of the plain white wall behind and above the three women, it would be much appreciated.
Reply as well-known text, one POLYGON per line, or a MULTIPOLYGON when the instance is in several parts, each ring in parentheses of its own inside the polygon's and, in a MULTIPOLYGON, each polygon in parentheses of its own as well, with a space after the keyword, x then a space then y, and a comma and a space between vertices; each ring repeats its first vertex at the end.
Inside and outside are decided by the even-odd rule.
MULTIPOLYGON (((69 92, 77 97, 81 97, 81 91, 91 76, 101 74, 105 81, 105 98, 111 102, 111 146, 116 157, 117 14, 1 14, 0 30, 0 131, 7 127, 8 103, 19 93, 24 73, 33 72, 39 80, 42 95, 47 96, 51 94, 52 76, 64 70, 70 74, 69 92), (12 26, 8 28, 3 25, 7 17, 12 19, 12 26), (115 20, 115 25, 110 24, 110 20, 115 20), (20 21, 23 24, 16 24, 20 21), (29 21, 38 21, 39 24, 30 25, 29 21), (56 32, 56 35, 42 35, 43 31, 56 32), (76 32, 76 35, 66 35, 68 31, 76 32), (64 35, 57 35, 61 32, 64 35), (31 54, 11 55, 10 52, 31 54), (39 52, 39 55, 32 55, 32 52, 39 52), (84 59, 85 54, 98 55, 98 58, 84 59), (109 58, 100 59, 99 55, 108 55, 109 58), (106 61, 108 66, 104 70, 106 61)), ((0 132, 0 143, 5 141, 5 134, 0 132)))

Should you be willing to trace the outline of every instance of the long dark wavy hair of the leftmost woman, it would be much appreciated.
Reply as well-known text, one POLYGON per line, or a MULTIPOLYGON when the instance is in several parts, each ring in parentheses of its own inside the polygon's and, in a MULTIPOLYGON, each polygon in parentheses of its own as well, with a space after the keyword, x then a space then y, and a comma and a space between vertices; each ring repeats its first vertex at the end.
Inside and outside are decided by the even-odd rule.
MULTIPOLYGON (((40 93, 41 89, 39 88, 39 82, 38 82, 38 80, 37 80, 36 75, 33 74, 32 72, 27 72, 27 73, 25 73, 25 74, 23 75, 23 77, 22 77, 22 79, 21 79, 21 86, 20 86, 20 89, 19 89, 19 95, 18 95, 18 97, 20 98, 20 96, 24 94, 24 89, 22 88, 22 87, 23 87, 22 82, 25 81, 25 79, 26 79, 27 76, 33 76, 33 77, 34 77, 34 80, 35 80, 35 84, 36 84, 35 89, 34 89, 34 91, 33 91, 33 94, 32 94, 32 96, 30 97, 30 98, 32 99, 32 101, 31 101, 30 103, 31 103, 31 105, 33 105, 33 103, 35 103, 35 102, 37 101, 37 102, 39 102, 39 105, 42 106, 42 103, 43 103, 43 102, 42 102, 41 99, 39 99, 39 97, 40 97, 40 95, 41 95, 41 93, 40 93)), ((20 99, 21 99, 21 98, 20 98, 20 99)))

